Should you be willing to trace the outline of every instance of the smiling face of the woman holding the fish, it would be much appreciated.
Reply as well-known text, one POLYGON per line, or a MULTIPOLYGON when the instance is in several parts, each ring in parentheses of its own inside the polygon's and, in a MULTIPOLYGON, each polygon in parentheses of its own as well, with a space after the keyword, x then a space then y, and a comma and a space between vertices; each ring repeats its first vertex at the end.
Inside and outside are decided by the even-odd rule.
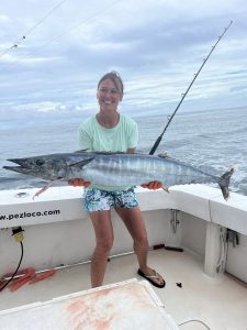
POLYGON ((123 95, 111 79, 101 81, 97 91, 97 99, 101 110, 116 110, 122 98, 123 95))

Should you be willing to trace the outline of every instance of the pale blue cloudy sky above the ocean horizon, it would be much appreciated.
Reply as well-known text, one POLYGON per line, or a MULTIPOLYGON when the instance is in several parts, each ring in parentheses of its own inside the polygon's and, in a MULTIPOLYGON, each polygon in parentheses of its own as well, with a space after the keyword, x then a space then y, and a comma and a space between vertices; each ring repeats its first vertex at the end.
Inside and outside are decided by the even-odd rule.
POLYGON ((0 4, 0 113, 93 112, 98 80, 120 73, 122 109, 247 106, 246 0, 13 0, 0 4))

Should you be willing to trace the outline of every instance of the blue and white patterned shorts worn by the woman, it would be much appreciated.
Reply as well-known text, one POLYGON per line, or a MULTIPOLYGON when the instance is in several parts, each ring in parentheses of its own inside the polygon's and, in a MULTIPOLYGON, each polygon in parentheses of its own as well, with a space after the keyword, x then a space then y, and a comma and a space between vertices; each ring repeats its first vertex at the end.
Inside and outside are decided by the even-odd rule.
POLYGON ((111 208, 135 208, 138 206, 134 188, 106 191, 94 188, 85 189, 85 210, 88 212, 106 211, 111 208))

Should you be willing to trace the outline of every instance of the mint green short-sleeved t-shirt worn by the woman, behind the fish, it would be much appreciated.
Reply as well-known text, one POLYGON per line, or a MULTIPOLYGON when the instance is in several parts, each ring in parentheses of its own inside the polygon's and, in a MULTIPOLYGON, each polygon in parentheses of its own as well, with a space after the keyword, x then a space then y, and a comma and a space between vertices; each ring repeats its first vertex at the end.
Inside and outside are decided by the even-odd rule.
MULTIPOLYGON (((120 114, 119 123, 112 129, 100 125, 92 117, 79 127, 79 146, 81 150, 92 152, 126 152, 127 148, 137 146, 138 129, 136 122, 120 114)), ((123 187, 105 187, 93 185, 93 188, 101 190, 121 190, 123 187)), ((126 187, 128 188, 128 187, 126 187)))

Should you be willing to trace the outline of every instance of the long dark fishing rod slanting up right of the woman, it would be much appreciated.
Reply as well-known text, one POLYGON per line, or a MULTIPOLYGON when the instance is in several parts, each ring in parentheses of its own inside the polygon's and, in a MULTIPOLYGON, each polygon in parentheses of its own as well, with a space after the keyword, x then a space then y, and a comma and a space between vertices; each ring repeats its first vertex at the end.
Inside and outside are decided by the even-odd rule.
POLYGON ((192 85, 194 84, 194 80, 198 78, 200 72, 202 70, 203 66, 205 65, 205 63, 207 62, 207 59, 210 58, 211 54, 213 53, 213 51, 215 50, 215 47, 217 46, 217 44, 220 43, 220 41, 222 40, 222 37, 224 36, 224 34, 226 33, 226 31, 229 29, 229 26, 232 25, 233 21, 229 22, 229 24, 225 28, 224 32, 218 36, 217 42, 213 45, 211 52, 209 53, 209 55, 206 56, 206 58, 203 61, 202 65, 200 66, 199 70, 197 72, 197 74, 194 75, 192 81, 190 82, 189 87, 187 88, 187 91, 184 94, 182 94, 182 98, 179 101, 177 108, 175 109, 173 113, 169 117, 169 120, 162 131, 162 133, 158 136, 158 139, 156 140, 155 144, 153 145, 149 155, 154 155, 155 151, 157 150, 159 143, 162 140, 162 135, 165 134, 167 128, 169 127, 171 120, 173 119, 176 112, 178 111, 179 107, 181 106, 182 101, 184 100, 186 96, 188 95, 190 88, 192 87, 192 85))

